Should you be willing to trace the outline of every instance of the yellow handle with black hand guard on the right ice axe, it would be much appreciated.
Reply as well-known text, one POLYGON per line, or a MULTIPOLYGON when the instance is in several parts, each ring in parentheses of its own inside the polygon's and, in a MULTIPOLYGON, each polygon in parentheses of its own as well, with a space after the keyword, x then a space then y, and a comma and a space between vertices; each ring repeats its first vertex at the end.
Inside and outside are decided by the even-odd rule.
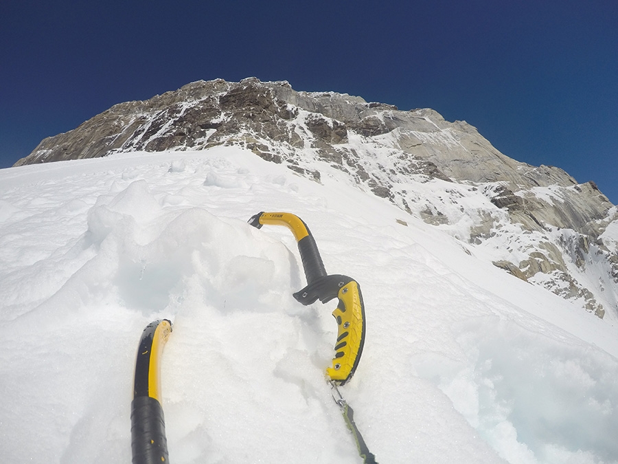
POLYGON ((343 385, 352 378, 361 360, 365 344, 365 305, 361 286, 356 280, 339 274, 319 278, 294 294, 299 302, 310 305, 319 299, 325 303, 339 298, 332 312, 337 322, 337 341, 332 366, 326 373, 336 384, 343 385))

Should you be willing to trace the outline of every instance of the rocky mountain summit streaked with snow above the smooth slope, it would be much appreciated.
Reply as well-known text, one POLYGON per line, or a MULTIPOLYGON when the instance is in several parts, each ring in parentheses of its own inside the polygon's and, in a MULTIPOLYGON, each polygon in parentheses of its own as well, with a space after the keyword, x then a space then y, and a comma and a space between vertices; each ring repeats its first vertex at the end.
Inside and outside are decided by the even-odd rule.
MULTIPOLYGON (((199 81, 116 104, 16 166, 128 151, 243 146, 320 182, 333 168, 517 278, 618 319, 618 208, 592 182, 500 153, 431 109, 288 82, 199 81)), ((405 221, 400 221, 405 223, 405 221)))

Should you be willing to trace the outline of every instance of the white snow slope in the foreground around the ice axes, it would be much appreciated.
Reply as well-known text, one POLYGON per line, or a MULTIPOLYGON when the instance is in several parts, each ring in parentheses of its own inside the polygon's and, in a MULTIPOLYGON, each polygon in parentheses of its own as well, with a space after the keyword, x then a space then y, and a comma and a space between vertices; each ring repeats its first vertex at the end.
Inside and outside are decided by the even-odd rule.
POLYGON ((172 463, 360 462, 324 381, 334 305, 299 305, 292 234, 247 224, 282 210, 363 289, 341 391, 380 463, 618 462, 613 324, 322 174, 240 148, 0 170, 3 461, 130 462, 137 343, 170 318, 172 463))

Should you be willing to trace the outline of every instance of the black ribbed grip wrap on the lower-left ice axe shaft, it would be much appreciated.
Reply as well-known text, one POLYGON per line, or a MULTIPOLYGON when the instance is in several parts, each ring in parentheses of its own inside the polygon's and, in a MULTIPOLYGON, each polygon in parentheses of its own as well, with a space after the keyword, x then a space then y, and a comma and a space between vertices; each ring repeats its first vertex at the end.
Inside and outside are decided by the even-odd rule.
POLYGON ((168 463, 168 440, 161 403, 152 397, 131 401, 133 464, 168 463))

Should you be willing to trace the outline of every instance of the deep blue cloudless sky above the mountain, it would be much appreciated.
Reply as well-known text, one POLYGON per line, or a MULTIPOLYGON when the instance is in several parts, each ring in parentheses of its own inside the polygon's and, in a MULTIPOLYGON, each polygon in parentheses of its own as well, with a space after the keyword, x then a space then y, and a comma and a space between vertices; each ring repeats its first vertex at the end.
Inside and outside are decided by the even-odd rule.
POLYGON ((618 203, 618 1, 0 2, 0 167, 113 104, 248 76, 466 120, 618 203))

